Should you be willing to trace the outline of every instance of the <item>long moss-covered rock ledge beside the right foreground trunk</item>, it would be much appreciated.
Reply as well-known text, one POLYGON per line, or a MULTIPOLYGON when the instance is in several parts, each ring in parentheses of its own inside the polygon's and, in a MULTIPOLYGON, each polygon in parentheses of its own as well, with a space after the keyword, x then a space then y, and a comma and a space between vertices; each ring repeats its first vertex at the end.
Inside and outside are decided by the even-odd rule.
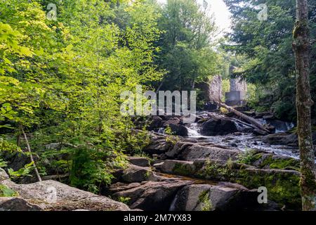
MULTIPOLYGON (((284 160, 276 167, 287 167, 289 162, 284 160)), ((269 200, 275 201, 281 207, 286 205, 289 209, 301 210, 300 173, 294 170, 254 167, 230 169, 225 165, 212 163, 204 165, 195 176, 200 179, 235 182, 249 189, 265 186, 268 189, 269 200)))

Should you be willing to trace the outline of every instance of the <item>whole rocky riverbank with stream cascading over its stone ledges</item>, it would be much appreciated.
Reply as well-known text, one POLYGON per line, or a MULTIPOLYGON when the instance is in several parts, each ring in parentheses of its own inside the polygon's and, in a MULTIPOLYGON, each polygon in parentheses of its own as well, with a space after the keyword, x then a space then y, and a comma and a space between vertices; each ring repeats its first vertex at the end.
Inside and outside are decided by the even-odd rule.
MULTIPOLYGON (((272 120, 268 115, 252 116, 272 120)), ((279 129, 271 124, 266 127, 272 133, 279 129)), ((16 197, 1 198, 0 209, 301 209, 295 134, 259 134, 232 115, 216 113, 201 113, 190 126, 183 124, 181 117, 157 116, 152 118, 149 129, 150 143, 143 149, 147 157, 129 157, 129 164, 113 173, 112 185, 101 188, 102 195, 51 180, 15 184, 1 171, 4 179, 0 179, 0 185, 11 188, 16 197), (173 135, 162 134, 166 127, 173 135), (54 202, 48 198, 50 187, 57 191, 54 202), (267 188, 268 203, 258 202, 257 190, 261 187, 267 188)))

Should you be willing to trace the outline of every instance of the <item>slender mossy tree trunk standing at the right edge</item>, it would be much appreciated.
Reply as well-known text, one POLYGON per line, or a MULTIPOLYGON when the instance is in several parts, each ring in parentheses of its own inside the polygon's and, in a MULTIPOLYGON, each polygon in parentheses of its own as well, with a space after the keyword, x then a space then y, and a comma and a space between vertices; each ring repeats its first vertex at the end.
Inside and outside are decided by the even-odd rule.
POLYGON ((298 142, 301 158, 301 195, 303 211, 315 209, 316 181, 315 155, 312 146, 311 106, 309 78, 308 1, 296 0, 296 25, 293 31, 293 49, 296 60, 296 109, 298 142))

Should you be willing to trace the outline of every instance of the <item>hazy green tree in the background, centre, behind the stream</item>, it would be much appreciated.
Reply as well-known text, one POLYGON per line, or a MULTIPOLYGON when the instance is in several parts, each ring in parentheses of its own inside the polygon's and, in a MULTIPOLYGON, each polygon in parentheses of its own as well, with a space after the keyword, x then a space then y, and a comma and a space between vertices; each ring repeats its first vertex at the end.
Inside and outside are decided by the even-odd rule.
POLYGON ((195 82, 216 75, 220 57, 212 49, 216 26, 208 9, 197 1, 168 0, 161 14, 158 25, 164 33, 156 63, 166 70, 162 89, 191 90, 195 82))

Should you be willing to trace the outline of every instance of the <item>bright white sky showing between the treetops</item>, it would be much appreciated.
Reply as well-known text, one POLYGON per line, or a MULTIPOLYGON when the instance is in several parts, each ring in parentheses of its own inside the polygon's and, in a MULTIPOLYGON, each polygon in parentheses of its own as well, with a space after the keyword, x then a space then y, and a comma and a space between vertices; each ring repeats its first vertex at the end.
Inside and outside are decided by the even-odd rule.
MULTIPOLYGON (((159 3, 166 3, 166 0, 157 0, 159 3)), ((197 0, 199 4, 203 4, 203 0, 197 0)), ((223 0, 206 0, 206 2, 209 4, 209 11, 210 13, 213 13, 216 25, 219 27, 220 30, 223 30, 223 32, 229 32, 230 31, 230 12, 228 11, 227 6, 225 5, 223 0)), ((223 34, 222 32, 222 34, 223 34)))

